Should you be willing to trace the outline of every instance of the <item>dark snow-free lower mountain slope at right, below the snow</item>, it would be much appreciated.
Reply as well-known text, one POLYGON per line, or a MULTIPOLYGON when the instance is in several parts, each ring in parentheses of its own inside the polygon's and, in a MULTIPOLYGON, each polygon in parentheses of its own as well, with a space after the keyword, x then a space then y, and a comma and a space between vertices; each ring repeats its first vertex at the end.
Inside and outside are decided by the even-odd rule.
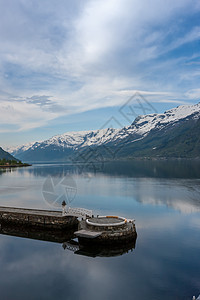
POLYGON ((120 157, 200 157, 200 119, 185 120, 172 128, 152 130, 148 136, 125 145, 120 157))

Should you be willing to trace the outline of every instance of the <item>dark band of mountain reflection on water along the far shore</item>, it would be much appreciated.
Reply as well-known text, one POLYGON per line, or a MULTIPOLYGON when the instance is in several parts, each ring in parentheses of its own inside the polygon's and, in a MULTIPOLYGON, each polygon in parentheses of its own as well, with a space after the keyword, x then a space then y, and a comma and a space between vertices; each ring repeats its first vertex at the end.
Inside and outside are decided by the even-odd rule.
POLYGON ((135 178, 200 178, 200 160, 135 160, 105 162, 103 168, 95 168, 95 172, 87 165, 80 169, 76 164, 41 164, 28 168, 17 169, 20 173, 30 173, 34 176, 55 177, 67 174, 81 174, 83 176, 95 176, 103 173, 109 176, 126 176, 135 178), (82 170, 80 172, 80 170, 82 170))

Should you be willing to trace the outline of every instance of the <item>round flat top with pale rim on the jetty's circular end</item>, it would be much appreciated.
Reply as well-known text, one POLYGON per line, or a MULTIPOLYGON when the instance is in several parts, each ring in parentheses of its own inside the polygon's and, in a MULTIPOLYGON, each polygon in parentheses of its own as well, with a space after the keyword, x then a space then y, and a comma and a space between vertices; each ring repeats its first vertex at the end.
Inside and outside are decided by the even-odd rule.
POLYGON ((93 227, 119 227, 126 224, 127 220, 122 217, 115 216, 99 216, 86 220, 86 224, 93 227))

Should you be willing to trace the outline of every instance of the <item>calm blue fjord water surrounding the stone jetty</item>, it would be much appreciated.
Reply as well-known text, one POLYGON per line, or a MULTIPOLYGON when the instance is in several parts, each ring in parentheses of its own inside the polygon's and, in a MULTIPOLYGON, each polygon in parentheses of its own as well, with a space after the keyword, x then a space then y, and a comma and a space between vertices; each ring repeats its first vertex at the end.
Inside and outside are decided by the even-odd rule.
POLYGON ((63 178, 73 183, 70 206, 135 219, 135 249, 92 258, 59 243, 0 235, 1 299, 186 300, 200 294, 199 162, 1 170, 0 205, 54 209, 43 194, 47 178, 55 193, 63 178))

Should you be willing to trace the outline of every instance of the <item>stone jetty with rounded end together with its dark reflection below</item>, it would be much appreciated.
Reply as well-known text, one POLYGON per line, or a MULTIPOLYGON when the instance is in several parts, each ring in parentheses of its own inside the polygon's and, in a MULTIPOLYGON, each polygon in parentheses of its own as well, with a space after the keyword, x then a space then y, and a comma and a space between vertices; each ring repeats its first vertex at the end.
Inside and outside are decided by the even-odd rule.
POLYGON ((90 210, 65 207, 54 211, 0 206, 0 234, 63 243, 64 249, 92 257, 132 251, 137 238, 134 220, 94 217, 90 210))

